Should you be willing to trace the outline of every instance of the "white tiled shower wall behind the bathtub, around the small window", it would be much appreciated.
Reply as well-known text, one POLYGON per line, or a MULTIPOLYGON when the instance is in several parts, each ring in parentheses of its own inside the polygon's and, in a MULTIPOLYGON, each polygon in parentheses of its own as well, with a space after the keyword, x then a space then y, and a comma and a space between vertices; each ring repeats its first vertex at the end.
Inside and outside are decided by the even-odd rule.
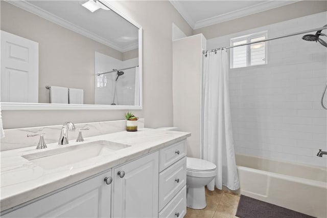
MULTIPOLYGON (((264 30, 268 30, 270 38, 325 24, 327 12, 318 13, 209 39, 207 49, 225 47, 230 38, 264 30)), ((301 37, 269 41, 268 64, 264 66, 229 71, 231 118, 238 154, 327 165, 326 156, 316 156, 319 148, 327 150, 327 111, 320 105, 327 81, 327 49, 301 37)))

